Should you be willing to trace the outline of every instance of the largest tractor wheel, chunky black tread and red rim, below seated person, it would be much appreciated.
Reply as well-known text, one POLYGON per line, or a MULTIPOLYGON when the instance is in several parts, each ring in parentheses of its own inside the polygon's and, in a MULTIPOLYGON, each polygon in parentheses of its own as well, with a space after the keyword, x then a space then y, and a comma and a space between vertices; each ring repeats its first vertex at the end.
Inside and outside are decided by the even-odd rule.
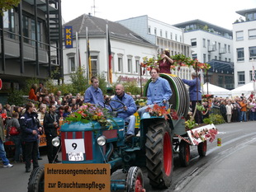
POLYGON ((149 184, 154 188, 168 188, 173 174, 173 143, 165 120, 154 121, 149 126, 145 150, 149 184))

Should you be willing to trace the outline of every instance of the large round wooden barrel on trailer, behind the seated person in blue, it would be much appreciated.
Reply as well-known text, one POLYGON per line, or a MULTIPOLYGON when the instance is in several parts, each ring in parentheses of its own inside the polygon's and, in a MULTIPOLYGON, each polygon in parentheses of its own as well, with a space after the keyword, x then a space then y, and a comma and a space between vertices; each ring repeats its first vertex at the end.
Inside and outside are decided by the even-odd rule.
MULTIPOLYGON (((183 81, 180 77, 173 74, 161 73, 160 77, 168 81, 173 91, 173 96, 169 99, 172 109, 177 111, 178 116, 186 116, 189 109, 189 96, 183 81)), ((151 79, 145 85, 144 96, 147 96, 149 82, 151 82, 151 79)))

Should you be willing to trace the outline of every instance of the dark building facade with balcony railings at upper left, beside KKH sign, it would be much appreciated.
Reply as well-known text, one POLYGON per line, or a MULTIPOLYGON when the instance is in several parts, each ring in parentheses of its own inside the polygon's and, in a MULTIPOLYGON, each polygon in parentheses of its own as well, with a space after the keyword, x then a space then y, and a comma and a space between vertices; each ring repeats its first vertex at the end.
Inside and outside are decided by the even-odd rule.
POLYGON ((0 95, 21 88, 26 78, 50 77, 56 66, 62 77, 61 27, 60 0, 22 0, 0 16, 0 95), (55 63, 52 50, 58 53, 55 63))

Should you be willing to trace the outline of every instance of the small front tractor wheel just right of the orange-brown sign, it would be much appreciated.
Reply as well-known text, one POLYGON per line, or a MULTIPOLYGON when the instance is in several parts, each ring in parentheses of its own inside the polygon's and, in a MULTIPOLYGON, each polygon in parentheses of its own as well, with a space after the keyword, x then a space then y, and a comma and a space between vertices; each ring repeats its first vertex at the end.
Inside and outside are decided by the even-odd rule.
POLYGON ((127 192, 145 192, 143 174, 138 166, 131 166, 126 176, 127 192))

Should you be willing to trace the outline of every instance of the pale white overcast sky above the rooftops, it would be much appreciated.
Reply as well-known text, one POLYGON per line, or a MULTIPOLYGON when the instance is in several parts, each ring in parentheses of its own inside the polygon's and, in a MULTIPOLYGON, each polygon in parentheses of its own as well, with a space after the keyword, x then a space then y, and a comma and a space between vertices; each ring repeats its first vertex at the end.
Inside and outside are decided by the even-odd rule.
POLYGON ((235 12, 251 8, 256 8, 256 0, 62 0, 65 22, 91 12, 92 16, 109 21, 148 15, 170 25, 200 19, 229 30, 240 17, 235 12), (92 8, 94 2, 95 10, 92 8))

